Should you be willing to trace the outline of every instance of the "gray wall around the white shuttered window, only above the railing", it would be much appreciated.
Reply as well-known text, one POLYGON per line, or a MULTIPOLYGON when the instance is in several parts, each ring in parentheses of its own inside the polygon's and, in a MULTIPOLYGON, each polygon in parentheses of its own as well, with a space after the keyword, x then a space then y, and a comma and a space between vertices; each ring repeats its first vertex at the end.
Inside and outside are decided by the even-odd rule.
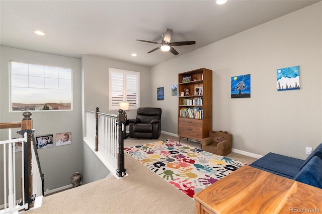
MULTIPOLYGON (((95 111, 96 107, 99 107, 102 113, 118 114, 117 111, 109 111, 109 68, 140 72, 140 104, 141 107, 150 107, 150 67, 84 55, 82 57, 84 111, 95 111)), ((135 118, 136 111, 127 111, 127 116, 135 118)))

